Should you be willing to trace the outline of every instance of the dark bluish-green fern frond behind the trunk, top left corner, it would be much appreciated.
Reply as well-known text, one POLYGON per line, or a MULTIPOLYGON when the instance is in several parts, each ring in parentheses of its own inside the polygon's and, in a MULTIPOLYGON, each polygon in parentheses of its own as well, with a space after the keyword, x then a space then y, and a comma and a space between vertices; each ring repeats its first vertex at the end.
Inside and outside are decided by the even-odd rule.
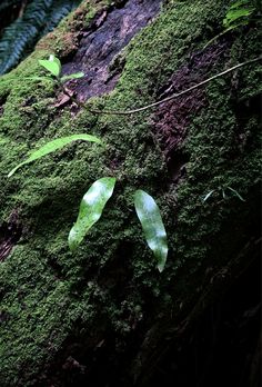
POLYGON ((29 1, 24 13, 2 32, 0 39, 0 75, 18 64, 36 42, 43 34, 51 31, 79 3, 80 0, 29 1))

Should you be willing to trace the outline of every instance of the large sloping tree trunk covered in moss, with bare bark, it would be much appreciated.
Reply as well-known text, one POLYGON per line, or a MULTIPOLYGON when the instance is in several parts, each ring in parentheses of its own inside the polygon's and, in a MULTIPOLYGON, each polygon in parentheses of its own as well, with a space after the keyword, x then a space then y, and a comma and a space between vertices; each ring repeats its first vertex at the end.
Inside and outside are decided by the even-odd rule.
POLYGON ((258 57, 255 21, 204 48, 226 7, 83 1, 2 77, 1 386, 258 386, 260 63, 140 113, 90 111, 141 107, 258 57), (64 72, 84 71, 67 88, 89 109, 53 82, 24 80, 42 73, 38 59, 50 52, 64 72), (78 142, 7 179, 30 149, 81 132, 105 147, 78 142), (114 195, 71 254, 79 202, 103 176, 117 177, 114 195), (161 209, 162 274, 135 217, 135 189, 161 209), (239 340, 226 347, 234 327, 239 340), (229 377, 219 369, 226 348, 239 351, 229 377))

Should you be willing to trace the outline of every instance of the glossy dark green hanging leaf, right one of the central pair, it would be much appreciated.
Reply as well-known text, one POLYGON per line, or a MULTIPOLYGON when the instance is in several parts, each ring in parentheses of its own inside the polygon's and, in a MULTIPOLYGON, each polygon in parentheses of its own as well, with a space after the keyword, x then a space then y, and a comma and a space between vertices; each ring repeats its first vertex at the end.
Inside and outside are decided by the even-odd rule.
POLYGON ((161 272, 168 257, 168 242, 159 207, 154 199, 141 189, 134 194, 134 207, 147 242, 157 258, 158 269, 161 272))

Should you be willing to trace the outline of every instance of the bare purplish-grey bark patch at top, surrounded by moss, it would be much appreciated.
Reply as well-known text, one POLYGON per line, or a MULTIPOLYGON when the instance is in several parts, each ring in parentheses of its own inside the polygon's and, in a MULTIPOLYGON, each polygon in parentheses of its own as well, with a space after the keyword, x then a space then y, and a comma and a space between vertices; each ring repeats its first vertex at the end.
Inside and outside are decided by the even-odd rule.
POLYGON ((159 12, 161 0, 115 2, 101 10, 79 42, 72 61, 63 66, 64 73, 84 72, 84 78, 70 83, 81 100, 111 91, 124 61, 118 58, 130 40, 159 12), (119 60, 118 60, 119 59, 119 60))

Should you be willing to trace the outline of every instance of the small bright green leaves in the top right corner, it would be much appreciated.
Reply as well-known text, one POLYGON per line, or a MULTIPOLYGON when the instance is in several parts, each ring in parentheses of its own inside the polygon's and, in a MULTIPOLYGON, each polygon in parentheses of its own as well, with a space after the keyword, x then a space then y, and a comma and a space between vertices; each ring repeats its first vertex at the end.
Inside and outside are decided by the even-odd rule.
POLYGON ((225 18, 223 19, 223 27, 225 29, 234 29, 239 26, 245 26, 250 21, 250 16, 255 10, 251 7, 249 0, 240 0, 234 2, 228 9, 225 18))

